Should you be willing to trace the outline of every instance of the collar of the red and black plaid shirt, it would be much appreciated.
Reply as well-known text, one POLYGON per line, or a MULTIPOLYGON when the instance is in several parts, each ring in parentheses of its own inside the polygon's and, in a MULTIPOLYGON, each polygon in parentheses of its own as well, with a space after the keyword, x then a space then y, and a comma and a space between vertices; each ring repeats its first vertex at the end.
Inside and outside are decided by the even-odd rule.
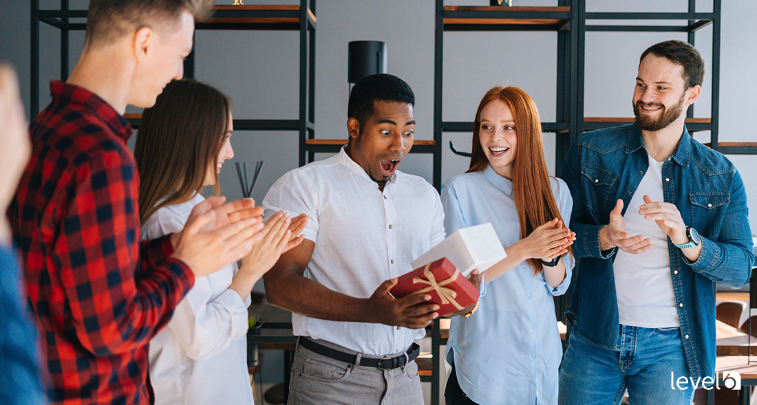
POLYGON ((116 136, 123 139, 124 143, 134 133, 134 129, 126 121, 126 118, 118 114, 118 111, 111 104, 107 104, 107 101, 104 101, 100 96, 83 87, 64 83, 60 80, 50 80, 50 93, 53 101, 58 101, 61 104, 79 104, 92 110, 93 115, 110 126, 116 136))

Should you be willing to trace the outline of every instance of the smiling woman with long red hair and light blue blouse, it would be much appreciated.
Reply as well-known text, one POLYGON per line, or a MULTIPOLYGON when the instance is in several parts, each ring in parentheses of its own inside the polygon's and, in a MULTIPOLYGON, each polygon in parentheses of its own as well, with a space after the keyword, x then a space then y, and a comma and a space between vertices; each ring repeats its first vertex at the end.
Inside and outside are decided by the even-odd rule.
POLYGON ((470 169, 442 192, 447 235, 491 223, 507 253, 481 274, 478 310, 452 320, 448 405, 557 403, 562 345, 553 295, 568 289, 575 233, 567 228, 568 186, 547 173, 541 137, 528 94, 490 89, 475 114, 470 169))

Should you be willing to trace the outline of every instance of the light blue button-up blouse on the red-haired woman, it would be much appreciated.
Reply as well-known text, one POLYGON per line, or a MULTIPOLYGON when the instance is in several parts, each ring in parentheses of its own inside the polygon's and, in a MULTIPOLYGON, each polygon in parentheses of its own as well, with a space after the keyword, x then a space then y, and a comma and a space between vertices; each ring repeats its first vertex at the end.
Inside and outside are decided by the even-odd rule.
MULTIPOLYGON (((573 200, 562 179, 550 177, 560 214, 569 225, 573 200)), ((441 195, 447 235, 466 226, 491 223, 504 248, 519 241, 520 230, 512 181, 491 167, 454 176, 441 195)), ((557 403, 562 344, 553 295, 565 294, 574 260, 566 256, 567 274, 552 288, 544 272, 534 276, 526 262, 486 282, 478 310, 455 316, 450 326, 447 361, 460 388, 481 405, 557 403)))

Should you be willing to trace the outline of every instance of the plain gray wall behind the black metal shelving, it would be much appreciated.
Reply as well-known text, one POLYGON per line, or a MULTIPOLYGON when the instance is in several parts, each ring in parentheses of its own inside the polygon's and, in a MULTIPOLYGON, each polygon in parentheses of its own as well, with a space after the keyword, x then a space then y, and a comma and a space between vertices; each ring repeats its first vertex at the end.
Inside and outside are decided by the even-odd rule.
MULTIPOLYGON (((57 2, 42 0, 43 8, 57 2)), ((515 5, 556 5, 553 1, 513 0, 515 5)), ((86 0, 72 0, 72 8, 86 8, 86 0)), ((218 1, 231 4, 232 0, 218 1)), ((248 4, 288 3, 247 0, 248 4)), ((459 0, 448 5, 484 5, 485 0, 459 0)), ((705 2, 702 2, 705 3, 705 2)), ((687 0, 591 0, 587 11, 686 11, 687 0)), ((21 91, 29 100, 29 16, 23 0, 0 0, 0 59, 17 67, 21 91)), ((711 11, 706 5, 699 11, 711 11)), ((749 94, 755 88, 757 52, 754 39, 757 2, 723 2, 721 42, 721 140, 749 141, 757 101, 749 94)), ((434 2, 431 0, 320 0, 317 5, 316 41, 316 137, 346 138, 347 42, 388 42, 388 71, 410 83, 416 92, 416 139, 431 139, 433 133, 434 2)), ((711 60, 711 28, 697 37, 697 47, 711 60)), ((48 79, 60 78, 58 32, 41 28, 40 107, 48 104, 48 79)), ((82 33, 73 33, 71 66, 81 50, 82 33)), ((669 38, 668 33, 587 33, 585 115, 632 117, 631 95, 638 55, 647 46, 669 38)), ((293 119, 298 108, 298 34, 285 32, 207 32, 196 34, 196 76, 228 93, 235 104, 235 117, 293 119)), ((444 120, 472 120, 481 95, 497 84, 525 89, 537 103, 543 120, 555 119, 556 84, 555 33, 447 33, 444 45, 444 120)), ((696 117, 709 117, 711 80, 696 103, 696 117)), ((702 142, 707 134, 696 136, 702 142)), ((462 173, 467 159, 453 155, 446 147, 453 141, 459 150, 470 150, 470 135, 444 134, 443 181, 462 173)), ((262 201, 266 190, 279 176, 298 165, 296 132, 235 132, 236 157, 226 164, 220 179, 223 194, 240 198, 234 161, 255 160, 266 165, 253 197, 262 201)), ((554 136, 545 135, 547 162, 553 170, 554 136)), ((319 155, 318 158, 325 157, 319 155)), ((749 207, 757 212, 757 178, 751 175, 752 156, 731 156, 746 182, 749 207)), ((431 158, 412 154, 401 170, 431 180, 431 158)), ((750 219, 757 229, 757 214, 750 219)), ((757 231, 755 231, 757 232, 757 231)), ((260 285, 257 286, 261 288, 260 285)), ((276 352, 266 354, 268 366, 279 365, 276 352)), ((268 367, 266 366, 266 367, 268 367)), ((280 369, 271 371, 281 375, 280 369)), ((266 382, 269 377, 266 376, 266 382)))

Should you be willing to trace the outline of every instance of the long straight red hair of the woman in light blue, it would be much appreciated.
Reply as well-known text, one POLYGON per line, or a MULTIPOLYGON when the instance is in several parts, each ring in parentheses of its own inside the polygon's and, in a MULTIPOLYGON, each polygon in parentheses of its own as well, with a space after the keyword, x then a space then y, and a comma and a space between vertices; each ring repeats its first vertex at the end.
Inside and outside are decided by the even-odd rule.
MULTIPOLYGON (((516 201, 520 237, 525 238, 538 226, 554 218, 562 221, 555 197, 550 186, 547 162, 544 161, 544 144, 542 143, 541 121, 534 100, 522 89, 515 86, 497 86, 489 89, 481 98, 473 122, 473 142, 471 164, 466 173, 480 172, 489 165, 489 160, 481 148, 479 132, 481 129, 481 111, 486 104, 494 100, 503 101, 512 111, 515 121, 516 157, 512 164, 512 194, 516 201)), ((564 226, 563 222, 563 226, 564 226)), ((572 252, 568 247, 569 254, 572 252)), ((541 260, 528 259, 534 269, 534 275, 541 271, 541 260)))

